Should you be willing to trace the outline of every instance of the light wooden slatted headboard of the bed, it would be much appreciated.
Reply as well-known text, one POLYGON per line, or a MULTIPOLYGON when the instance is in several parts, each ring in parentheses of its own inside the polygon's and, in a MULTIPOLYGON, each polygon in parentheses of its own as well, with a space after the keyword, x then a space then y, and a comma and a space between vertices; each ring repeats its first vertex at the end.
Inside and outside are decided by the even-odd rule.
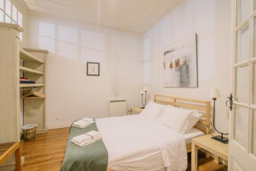
POLYGON ((199 120, 194 126, 196 129, 209 134, 210 129, 210 101, 187 99, 173 96, 165 96, 154 94, 154 102, 171 104, 175 107, 183 107, 185 109, 197 110, 199 113, 203 114, 205 120, 199 120))

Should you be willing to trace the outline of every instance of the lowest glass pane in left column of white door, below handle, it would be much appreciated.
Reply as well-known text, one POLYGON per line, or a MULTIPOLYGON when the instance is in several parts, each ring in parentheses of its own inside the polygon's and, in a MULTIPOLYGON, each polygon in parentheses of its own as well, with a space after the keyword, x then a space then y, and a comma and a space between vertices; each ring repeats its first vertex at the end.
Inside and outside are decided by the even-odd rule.
POLYGON ((234 139, 244 148, 248 148, 248 108, 234 107, 234 139))

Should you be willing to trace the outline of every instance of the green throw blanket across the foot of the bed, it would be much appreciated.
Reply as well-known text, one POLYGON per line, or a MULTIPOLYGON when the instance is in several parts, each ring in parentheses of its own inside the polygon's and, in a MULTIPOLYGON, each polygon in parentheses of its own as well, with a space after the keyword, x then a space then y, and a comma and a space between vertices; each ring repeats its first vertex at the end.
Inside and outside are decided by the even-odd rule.
POLYGON ((98 131, 96 123, 84 127, 84 129, 71 127, 61 171, 106 171, 108 151, 102 140, 83 147, 71 142, 73 137, 92 130, 98 131))

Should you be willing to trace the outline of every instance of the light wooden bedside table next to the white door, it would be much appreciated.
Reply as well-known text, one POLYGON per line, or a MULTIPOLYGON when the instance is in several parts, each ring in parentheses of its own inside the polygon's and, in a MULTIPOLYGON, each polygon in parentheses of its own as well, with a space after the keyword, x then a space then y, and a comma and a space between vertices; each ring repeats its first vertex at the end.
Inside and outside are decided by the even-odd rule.
MULTIPOLYGON (((212 133, 212 135, 216 136, 220 134, 212 133)), ((212 139, 212 135, 208 134, 191 140, 191 171, 197 170, 197 151, 200 148, 214 154, 214 161, 216 163, 220 163, 220 158, 228 160, 228 144, 212 139)))

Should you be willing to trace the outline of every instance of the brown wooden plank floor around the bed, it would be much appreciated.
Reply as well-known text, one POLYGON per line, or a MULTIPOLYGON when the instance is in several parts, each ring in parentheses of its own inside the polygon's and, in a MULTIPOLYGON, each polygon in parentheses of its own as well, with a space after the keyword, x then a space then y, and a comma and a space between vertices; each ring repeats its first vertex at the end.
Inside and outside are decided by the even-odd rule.
MULTIPOLYGON (((21 152, 25 157, 22 171, 50 170, 59 171, 64 159, 69 128, 50 130, 46 134, 36 135, 34 140, 22 141, 21 152)), ((216 164, 214 159, 205 158, 202 152, 198 154, 198 170, 226 171, 223 164, 216 164)), ((190 170, 190 153, 188 154, 188 168, 190 170)))

